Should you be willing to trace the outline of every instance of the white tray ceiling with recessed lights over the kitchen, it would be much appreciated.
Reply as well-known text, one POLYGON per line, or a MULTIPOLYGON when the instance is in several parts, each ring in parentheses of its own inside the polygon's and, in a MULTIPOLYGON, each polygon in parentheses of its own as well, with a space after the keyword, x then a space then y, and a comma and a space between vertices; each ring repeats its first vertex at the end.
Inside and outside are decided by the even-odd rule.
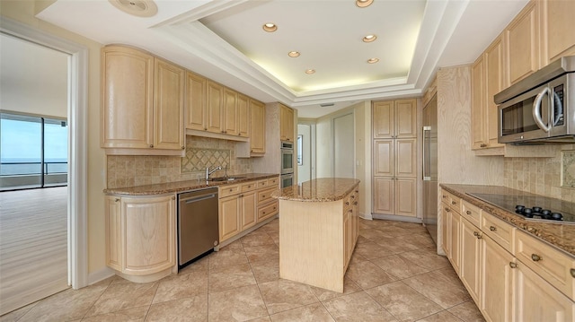
POLYGON ((320 117, 359 100, 420 96, 438 67, 473 62, 526 2, 374 0, 359 8, 354 0, 155 0, 158 13, 145 18, 107 0, 58 0, 38 17, 102 44, 146 49, 257 100, 281 101, 299 117, 320 117), (267 22, 278 30, 263 30, 267 22), (368 34, 376 40, 362 41, 368 34))

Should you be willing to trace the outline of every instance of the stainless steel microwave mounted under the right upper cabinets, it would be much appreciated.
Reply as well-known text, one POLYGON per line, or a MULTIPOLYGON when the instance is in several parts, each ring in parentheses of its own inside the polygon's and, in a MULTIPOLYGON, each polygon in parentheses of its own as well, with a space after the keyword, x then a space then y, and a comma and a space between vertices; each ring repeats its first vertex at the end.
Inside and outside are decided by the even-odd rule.
POLYGON ((575 143, 575 56, 495 95, 500 143, 575 143))

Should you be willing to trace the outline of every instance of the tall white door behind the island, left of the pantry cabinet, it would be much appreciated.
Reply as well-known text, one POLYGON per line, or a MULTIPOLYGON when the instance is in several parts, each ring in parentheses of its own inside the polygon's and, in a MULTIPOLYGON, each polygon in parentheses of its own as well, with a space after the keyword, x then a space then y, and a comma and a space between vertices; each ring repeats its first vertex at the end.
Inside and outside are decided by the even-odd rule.
POLYGON ((355 178, 353 113, 333 118, 333 177, 355 178))

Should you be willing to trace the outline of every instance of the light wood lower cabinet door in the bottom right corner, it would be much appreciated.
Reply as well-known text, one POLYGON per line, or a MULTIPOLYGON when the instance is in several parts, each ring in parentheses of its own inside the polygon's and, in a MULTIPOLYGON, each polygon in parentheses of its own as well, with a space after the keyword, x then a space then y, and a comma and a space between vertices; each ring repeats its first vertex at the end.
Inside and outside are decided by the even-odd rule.
POLYGON ((517 264, 516 274, 516 321, 573 321, 572 300, 522 263, 517 264))

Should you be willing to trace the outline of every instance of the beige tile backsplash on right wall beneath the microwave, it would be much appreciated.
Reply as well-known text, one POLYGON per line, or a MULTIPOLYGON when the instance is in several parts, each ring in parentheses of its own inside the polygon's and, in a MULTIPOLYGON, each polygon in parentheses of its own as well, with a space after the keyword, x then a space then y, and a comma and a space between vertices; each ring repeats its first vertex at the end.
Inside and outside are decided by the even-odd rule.
POLYGON ((575 167, 573 151, 562 151, 553 158, 504 158, 506 187, 575 202, 575 182, 565 178, 562 168, 575 167), (571 182, 571 187, 568 187, 571 182))

